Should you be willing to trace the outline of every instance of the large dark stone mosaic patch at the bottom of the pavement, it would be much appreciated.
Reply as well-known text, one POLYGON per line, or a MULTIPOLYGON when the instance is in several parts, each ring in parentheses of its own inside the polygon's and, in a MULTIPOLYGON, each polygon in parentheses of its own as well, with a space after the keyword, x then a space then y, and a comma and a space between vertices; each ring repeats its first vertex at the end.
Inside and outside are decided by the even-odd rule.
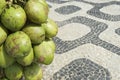
POLYGON ((111 76, 110 76, 110 73, 107 69, 105 69, 104 67, 90 61, 89 59, 85 59, 85 58, 81 58, 81 59, 77 59, 77 60, 74 60, 72 61, 71 63, 69 63, 68 65, 66 65, 65 67, 63 67, 60 71, 56 72, 54 75, 53 75, 53 80, 61 80, 62 77, 65 77, 65 80, 111 80, 111 76), (82 67, 82 70, 80 70, 79 68, 81 66, 79 66, 78 62, 83 62, 84 64, 90 64, 90 65, 93 65, 95 66, 94 68, 91 67, 91 66, 83 66, 82 67), (77 65, 76 68, 75 67, 71 67, 73 64, 75 64, 77 62, 77 65), (89 67, 89 68, 88 68, 89 67), (64 70, 68 68, 67 70, 64 70), (91 69, 93 68, 93 69, 91 69), (74 69, 74 70, 73 70, 74 69), (89 71, 89 73, 87 73, 87 69, 89 71), (64 72, 62 71, 65 71, 67 74, 64 74, 64 72), (58 76, 62 74, 62 76, 58 76))

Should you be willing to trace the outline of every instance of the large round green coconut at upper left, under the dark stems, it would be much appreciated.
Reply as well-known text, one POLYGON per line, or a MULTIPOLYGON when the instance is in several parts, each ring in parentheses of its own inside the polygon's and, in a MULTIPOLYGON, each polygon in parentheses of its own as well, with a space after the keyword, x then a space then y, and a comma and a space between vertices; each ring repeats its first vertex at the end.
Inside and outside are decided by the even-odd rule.
POLYGON ((19 5, 12 5, 1 14, 2 24, 10 31, 19 31, 26 23, 26 13, 19 5))

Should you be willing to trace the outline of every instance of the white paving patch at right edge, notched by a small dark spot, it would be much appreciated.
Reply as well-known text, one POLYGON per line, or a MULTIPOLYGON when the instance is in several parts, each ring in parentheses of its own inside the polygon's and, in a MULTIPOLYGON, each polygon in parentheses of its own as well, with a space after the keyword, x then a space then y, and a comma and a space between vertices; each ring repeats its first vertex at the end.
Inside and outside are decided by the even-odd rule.
POLYGON ((115 33, 117 28, 120 28, 120 23, 109 23, 108 28, 99 35, 99 38, 120 47, 120 36, 115 33))

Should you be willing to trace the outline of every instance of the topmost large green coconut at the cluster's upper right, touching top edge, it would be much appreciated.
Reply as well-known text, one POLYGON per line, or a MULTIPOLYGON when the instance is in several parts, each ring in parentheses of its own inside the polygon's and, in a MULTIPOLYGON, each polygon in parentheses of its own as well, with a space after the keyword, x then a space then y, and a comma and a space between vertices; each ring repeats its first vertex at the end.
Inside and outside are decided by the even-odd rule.
POLYGON ((33 23, 41 24, 47 21, 49 10, 38 0, 29 0, 25 5, 24 10, 28 19, 33 23))

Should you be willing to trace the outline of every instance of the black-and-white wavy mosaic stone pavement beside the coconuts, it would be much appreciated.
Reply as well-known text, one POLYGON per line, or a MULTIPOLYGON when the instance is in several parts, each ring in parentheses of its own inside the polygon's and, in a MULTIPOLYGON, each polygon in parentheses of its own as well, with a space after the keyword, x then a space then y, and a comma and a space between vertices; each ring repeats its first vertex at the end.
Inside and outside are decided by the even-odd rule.
POLYGON ((43 80, 120 80, 120 0, 47 0, 59 25, 43 80))

